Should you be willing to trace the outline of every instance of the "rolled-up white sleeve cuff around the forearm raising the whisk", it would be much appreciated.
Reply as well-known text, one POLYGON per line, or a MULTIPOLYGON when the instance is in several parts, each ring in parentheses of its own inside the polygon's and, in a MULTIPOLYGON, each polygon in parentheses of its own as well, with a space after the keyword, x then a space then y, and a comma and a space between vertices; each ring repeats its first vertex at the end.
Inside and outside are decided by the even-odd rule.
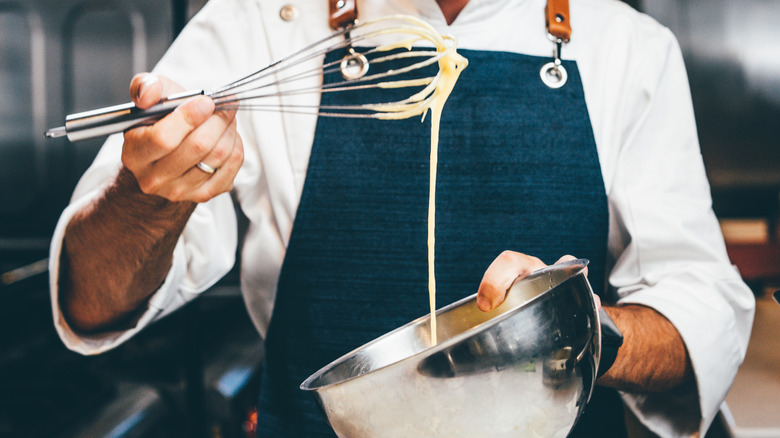
POLYGON ((132 327, 89 335, 73 330, 63 317, 58 299, 57 279, 65 227, 78 210, 101 196, 113 182, 121 166, 121 148, 121 135, 107 140, 76 186, 71 204, 60 217, 52 238, 49 272, 54 325, 65 345, 81 354, 99 354, 116 347, 208 289, 235 262, 236 215, 230 195, 222 194, 197 206, 176 244, 173 266, 165 281, 147 301, 141 317, 132 327))

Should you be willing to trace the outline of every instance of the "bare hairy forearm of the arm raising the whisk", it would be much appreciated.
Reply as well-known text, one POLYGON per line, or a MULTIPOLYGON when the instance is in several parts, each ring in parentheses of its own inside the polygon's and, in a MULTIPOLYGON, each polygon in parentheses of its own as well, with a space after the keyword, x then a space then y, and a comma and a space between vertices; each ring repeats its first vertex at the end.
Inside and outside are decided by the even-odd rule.
POLYGON ((195 205, 144 194, 123 168, 65 230, 59 296, 69 323, 91 332, 132 318, 165 279, 195 205))

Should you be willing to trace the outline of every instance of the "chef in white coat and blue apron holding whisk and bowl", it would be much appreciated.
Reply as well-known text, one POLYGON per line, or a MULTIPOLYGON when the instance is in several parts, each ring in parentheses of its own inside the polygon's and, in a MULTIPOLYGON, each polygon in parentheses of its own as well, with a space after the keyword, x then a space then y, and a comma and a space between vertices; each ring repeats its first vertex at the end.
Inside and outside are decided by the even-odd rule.
MULTIPOLYGON (((572 0, 554 20, 572 24, 568 42, 550 39, 545 7, 560 3, 357 2, 360 20, 422 18, 469 60, 442 116, 437 300, 479 291, 489 310, 518 276, 589 259, 624 344, 573 436, 626 436, 626 418, 703 436, 754 300, 711 210, 680 49, 613 0, 572 0)), ((330 15, 327 0, 212 0, 132 99, 227 83, 326 36, 330 15)), ((259 434, 332 436, 300 382, 427 311, 426 123, 215 111, 198 97, 110 137, 55 231, 60 336, 83 354, 114 348, 218 281, 240 245, 267 352, 259 434)))

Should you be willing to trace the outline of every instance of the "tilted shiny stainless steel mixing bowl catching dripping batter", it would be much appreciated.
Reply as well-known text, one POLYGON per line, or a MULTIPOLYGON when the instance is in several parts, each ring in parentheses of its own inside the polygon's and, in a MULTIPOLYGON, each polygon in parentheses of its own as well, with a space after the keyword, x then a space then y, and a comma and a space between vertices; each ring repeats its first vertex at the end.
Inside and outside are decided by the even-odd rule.
POLYGON ((565 437, 601 355, 586 260, 539 270, 485 313, 476 295, 352 351, 301 384, 339 437, 565 437))

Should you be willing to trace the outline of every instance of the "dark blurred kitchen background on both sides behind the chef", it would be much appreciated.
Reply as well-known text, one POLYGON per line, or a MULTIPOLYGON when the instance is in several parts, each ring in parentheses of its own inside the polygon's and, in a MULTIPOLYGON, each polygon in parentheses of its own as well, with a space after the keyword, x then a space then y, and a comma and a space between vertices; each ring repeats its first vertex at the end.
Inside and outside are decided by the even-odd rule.
MULTIPOLYGON (((0 437, 253 436, 262 349, 235 273, 97 357, 67 351, 50 316, 49 238, 102 141, 43 132, 127 101, 132 75, 205 2, 0 0, 0 437)), ((758 300, 708 436, 780 437, 780 306, 768 293, 780 288, 780 1, 627 3, 680 41, 715 211, 758 300)))

